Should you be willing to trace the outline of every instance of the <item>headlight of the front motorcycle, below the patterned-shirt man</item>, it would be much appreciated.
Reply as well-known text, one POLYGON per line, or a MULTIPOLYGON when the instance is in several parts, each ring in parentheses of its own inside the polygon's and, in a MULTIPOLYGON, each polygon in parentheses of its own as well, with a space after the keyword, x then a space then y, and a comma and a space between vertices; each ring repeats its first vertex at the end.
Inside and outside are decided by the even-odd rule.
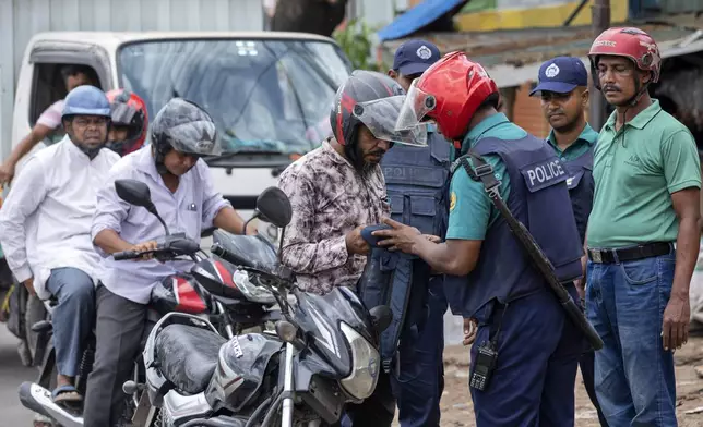
POLYGON ((381 356, 373 345, 354 328, 345 322, 341 322, 339 328, 352 350, 352 373, 348 377, 339 380, 339 383, 352 396, 367 399, 376 389, 381 356))

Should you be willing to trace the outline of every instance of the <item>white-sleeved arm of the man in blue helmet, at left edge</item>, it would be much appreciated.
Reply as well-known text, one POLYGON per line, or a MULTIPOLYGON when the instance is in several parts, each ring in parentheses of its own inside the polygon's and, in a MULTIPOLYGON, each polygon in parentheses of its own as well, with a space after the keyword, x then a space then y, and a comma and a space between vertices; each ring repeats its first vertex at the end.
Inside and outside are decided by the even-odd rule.
POLYGON ((45 171, 37 158, 27 161, 0 209, 0 241, 8 265, 17 281, 32 279, 26 253, 26 220, 47 193, 45 171))

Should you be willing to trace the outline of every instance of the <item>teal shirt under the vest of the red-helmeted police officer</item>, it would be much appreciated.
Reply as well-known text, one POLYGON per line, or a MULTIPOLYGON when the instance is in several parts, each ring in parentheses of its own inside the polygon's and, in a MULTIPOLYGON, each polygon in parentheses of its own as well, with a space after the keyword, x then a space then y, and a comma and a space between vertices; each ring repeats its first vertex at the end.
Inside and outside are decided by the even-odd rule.
MULTIPOLYGON (((462 154, 475 147, 481 138, 521 139, 527 136, 522 127, 511 123, 505 114, 498 113, 484 119, 464 138, 462 154)), ((510 180, 505 164, 498 155, 484 156, 487 163, 493 167, 496 179, 501 181, 500 194, 508 200, 510 180)), ((470 162, 470 158, 469 158, 470 162)), ((458 166, 450 184, 449 229, 446 239, 484 240, 486 231, 500 212, 493 209, 484 184, 468 178, 466 170, 458 166)))

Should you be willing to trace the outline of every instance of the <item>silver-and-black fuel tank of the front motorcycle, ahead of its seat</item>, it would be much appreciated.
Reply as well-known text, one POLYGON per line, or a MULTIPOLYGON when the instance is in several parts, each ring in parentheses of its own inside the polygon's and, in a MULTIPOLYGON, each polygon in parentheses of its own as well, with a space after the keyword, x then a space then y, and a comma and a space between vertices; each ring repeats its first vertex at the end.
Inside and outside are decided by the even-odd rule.
POLYGON ((275 386, 277 375, 266 373, 275 369, 275 356, 283 345, 277 338, 261 333, 247 333, 227 341, 219 349, 215 374, 205 391, 213 410, 226 407, 237 413, 255 401, 266 378, 275 386))

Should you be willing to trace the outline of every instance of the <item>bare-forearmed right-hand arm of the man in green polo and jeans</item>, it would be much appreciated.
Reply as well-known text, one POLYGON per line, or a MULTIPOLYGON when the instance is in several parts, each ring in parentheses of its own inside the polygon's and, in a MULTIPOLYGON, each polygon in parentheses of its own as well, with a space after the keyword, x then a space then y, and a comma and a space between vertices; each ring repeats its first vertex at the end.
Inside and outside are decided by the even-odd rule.
POLYGON ((664 349, 674 350, 688 341, 691 309, 689 284, 701 242, 698 227, 701 216, 701 164, 695 143, 688 132, 679 132, 665 142, 662 157, 671 204, 679 220, 674 283, 662 325, 664 349))

